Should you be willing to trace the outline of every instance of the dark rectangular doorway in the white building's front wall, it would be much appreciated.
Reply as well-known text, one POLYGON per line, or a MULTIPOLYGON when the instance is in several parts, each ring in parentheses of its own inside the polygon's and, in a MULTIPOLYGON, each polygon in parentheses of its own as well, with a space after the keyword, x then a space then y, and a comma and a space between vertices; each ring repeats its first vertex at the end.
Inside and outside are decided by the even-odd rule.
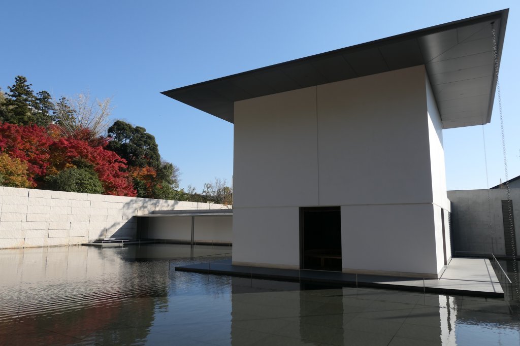
POLYGON ((340 207, 300 208, 300 268, 342 270, 340 207))

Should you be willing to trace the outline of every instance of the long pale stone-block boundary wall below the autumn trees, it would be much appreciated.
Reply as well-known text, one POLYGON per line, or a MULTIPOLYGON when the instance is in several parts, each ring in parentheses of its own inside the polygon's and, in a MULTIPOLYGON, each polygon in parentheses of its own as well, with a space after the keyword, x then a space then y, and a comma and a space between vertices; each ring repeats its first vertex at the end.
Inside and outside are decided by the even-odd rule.
POLYGON ((218 204, 0 187, 0 248, 77 245, 135 237, 134 215, 220 209, 218 204))

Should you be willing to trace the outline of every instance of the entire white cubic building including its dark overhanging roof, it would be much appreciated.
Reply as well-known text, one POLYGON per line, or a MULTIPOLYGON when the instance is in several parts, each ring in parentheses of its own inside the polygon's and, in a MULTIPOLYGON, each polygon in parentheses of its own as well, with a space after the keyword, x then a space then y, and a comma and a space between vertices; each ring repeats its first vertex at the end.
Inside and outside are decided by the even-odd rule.
POLYGON ((507 16, 163 92, 235 124, 233 264, 438 277, 442 130, 490 122, 507 16))

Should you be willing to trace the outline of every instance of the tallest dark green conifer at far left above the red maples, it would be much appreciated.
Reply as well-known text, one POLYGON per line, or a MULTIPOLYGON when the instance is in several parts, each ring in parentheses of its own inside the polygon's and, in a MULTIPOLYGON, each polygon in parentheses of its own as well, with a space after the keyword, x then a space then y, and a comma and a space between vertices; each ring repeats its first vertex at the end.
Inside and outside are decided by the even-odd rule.
POLYGON ((16 76, 15 84, 5 94, 0 121, 18 125, 47 126, 53 121, 54 104, 50 94, 42 90, 34 95, 32 84, 24 76, 16 76))

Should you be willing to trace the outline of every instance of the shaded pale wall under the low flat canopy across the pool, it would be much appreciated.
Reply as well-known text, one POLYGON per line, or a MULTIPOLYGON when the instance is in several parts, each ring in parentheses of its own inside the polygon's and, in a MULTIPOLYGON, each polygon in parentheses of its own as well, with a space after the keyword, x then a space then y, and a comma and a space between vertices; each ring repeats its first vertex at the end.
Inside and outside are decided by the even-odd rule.
MULTIPOLYGON (((141 234, 150 239, 191 240, 191 216, 151 217, 148 218, 148 232, 141 234)), ((232 242, 233 217, 195 216, 193 240, 195 242, 232 242)))

